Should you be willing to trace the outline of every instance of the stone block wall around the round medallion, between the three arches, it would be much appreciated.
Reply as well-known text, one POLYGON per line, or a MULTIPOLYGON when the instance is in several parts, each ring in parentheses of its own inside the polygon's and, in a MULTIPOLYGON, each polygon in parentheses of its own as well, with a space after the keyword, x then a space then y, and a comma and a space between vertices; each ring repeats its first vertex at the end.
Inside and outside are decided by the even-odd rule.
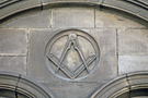
POLYGON ((61 7, 30 10, 0 23, 0 71, 26 75, 56 98, 89 98, 118 75, 148 71, 147 23, 106 8, 61 7), (45 48, 56 33, 80 29, 100 47, 100 62, 88 77, 65 81, 45 62, 45 48))

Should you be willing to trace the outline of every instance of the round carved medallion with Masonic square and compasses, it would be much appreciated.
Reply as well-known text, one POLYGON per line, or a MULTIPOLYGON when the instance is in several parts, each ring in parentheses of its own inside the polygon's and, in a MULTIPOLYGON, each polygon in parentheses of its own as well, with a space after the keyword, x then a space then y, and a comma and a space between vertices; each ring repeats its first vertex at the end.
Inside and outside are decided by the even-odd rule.
POLYGON ((95 70, 99 56, 100 49, 92 36, 70 29, 49 39, 45 61, 54 75, 67 81, 78 81, 95 70))

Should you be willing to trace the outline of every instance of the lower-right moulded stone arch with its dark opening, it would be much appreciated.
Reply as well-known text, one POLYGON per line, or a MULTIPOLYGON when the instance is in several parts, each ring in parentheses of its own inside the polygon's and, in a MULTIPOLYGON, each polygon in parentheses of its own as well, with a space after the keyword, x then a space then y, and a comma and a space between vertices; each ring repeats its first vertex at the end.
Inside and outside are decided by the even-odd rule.
POLYGON ((135 72, 117 76, 99 88, 91 98, 125 98, 124 96, 129 96, 129 98, 138 98, 138 96, 148 97, 147 90, 148 72, 135 72))

